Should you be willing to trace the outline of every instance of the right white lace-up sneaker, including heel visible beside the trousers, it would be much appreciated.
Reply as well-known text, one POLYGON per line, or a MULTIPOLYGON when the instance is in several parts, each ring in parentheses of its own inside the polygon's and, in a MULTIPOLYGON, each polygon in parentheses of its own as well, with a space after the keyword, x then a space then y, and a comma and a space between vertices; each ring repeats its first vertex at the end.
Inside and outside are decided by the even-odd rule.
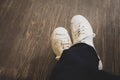
MULTIPOLYGON (((93 38, 95 37, 95 33, 93 33, 93 29, 88 20, 82 15, 73 16, 71 19, 71 33, 73 44, 86 43, 94 47, 93 38)), ((98 58, 100 59, 99 55, 98 58)), ((98 69, 102 70, 102 68, 103 65, 100 60, 98 69)))

